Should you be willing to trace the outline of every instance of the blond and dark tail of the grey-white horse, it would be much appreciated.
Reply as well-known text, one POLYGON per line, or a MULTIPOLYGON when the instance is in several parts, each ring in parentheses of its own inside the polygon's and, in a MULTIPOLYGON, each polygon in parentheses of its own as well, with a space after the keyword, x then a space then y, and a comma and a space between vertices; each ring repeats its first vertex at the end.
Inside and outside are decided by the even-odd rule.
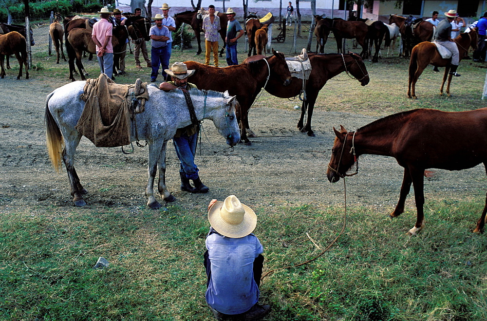
POLYGON ((64 139, 62 138, 61 131, 57 127, 56 121, 53 115, 49 111, 49 99, 54 92, 47 96, 46 100, 46 112, 44 115, 44 121, 46 123, 46 145, 51 163, 57 172, 61 170, 61 150, 64 145, 64 139))

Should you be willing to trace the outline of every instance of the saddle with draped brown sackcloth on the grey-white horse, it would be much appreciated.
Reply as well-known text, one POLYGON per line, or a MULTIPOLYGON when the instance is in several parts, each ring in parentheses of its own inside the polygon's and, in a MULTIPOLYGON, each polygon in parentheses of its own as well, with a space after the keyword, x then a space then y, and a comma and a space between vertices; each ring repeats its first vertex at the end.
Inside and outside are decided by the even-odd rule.
POLYGON ((86 80, 80 97, 85 107, 75 129, 96 147, 118 147, 129 145, 131 135, 137 136, 131 132, 131 120, 135 113, 144 112, 149 92, 147 83, 140 79, 135 84, 122 85, 101 74, 86 80))

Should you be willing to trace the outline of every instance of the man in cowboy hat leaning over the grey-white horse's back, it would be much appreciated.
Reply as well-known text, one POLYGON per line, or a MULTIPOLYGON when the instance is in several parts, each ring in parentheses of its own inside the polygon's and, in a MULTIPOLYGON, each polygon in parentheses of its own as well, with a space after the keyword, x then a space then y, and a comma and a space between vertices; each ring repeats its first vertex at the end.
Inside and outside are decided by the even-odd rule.
MULTIPOLYGON (((159 89, 169 92, 174 89, 180 89, 187 92, 190 89, 198 89, 196 85, 187 82, 187 78, 194 74, 194 70, 187 70, 184 62, 176 61, 172 64, 171 69, 167 69, 166 73, 171 76, 172 81, 163 82, 159 85, 159 89)), ((198 174, 198 167, 194 164, 194 156, 196 155, 196 143, 198 142, 198 132, 200 125, 198 123, 191 124, 185 128, 179 128, 172 138, 174 149, 179 158, 179 177, 181 178, 181 190, 190 193, 206 193, 209 189, 201 182, 198 174), (191 186, 189 180, 193 181, 194 187, 191 186)))

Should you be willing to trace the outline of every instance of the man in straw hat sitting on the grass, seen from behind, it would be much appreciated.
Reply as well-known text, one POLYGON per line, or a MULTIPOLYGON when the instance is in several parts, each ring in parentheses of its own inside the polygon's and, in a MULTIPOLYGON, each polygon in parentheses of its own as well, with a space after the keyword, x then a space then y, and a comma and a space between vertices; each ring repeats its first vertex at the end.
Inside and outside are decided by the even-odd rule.
POLYGON ((260 305, 263 248, 252 234, 257 216, 235 195, 208 205, 206 236, 206 302, 217 320, 257 320, 269 305, 260 305))

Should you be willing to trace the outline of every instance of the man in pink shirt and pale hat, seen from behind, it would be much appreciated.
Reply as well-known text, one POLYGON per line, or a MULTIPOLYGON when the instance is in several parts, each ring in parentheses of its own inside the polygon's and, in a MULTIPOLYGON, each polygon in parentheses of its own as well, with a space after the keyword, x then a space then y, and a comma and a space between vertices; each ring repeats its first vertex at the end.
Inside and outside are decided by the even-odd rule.
POLYGON ((96 57, 100 66, 100 73, 112 78, 113 73, 113 46, 111 12, 107 8, 98 11, 100 21, 95 22, 92 30, 92 39, 96 45, 96 57))

